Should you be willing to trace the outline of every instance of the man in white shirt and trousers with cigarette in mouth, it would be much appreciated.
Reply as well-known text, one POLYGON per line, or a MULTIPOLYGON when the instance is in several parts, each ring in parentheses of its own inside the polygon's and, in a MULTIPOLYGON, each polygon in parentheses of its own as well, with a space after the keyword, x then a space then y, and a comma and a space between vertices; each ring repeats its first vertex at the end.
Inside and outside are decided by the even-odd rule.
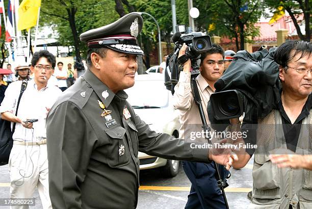
POLYGON ((47 50, 35 53, 30 68, 34 73, 34 80, 27 82, 17 114, 22 81, 16 81, 8 87, 0 106, 2 119, 11 121, 11 127, 16 123, 9 159, 10 197, 32 198, 37 187, 43 208, 52 208, 48 192, 45 121, 49 109, 62 93, 56 86, 47 85, 55 63, 55 57, 47 50), (27 122, 27 119, 38 121, 27 122))

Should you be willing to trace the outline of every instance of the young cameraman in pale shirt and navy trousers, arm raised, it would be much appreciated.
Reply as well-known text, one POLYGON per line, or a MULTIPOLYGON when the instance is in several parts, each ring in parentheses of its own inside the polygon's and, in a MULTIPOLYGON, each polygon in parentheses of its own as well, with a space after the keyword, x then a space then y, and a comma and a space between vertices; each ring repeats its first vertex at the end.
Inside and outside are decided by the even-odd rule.
MULTIPOLYGON (((179 57, 185 54, 187 45, 184 43, 179 51, 179 57)), ((214 93, 215 82, 224 71, 224 51, 218 44, 201 55, 200 74, 197 76, 197 87, 202 99, 203 110, 207 109, 210 95, 214 93)), ((201 119, 198 107, 195 104, 191 90, 191 60, 189 59, 180 72, 180 77, 174 90, 173 106, 180 112, 181 127, 180 138, 190 139, 191 132, 201 132, 201 119)), ((209 124, 207 111, 204 111, 207 124, 209 124)), ((198 139, 197 139, 198 140, 198 139)), ((221 190, 218 188, 215 178, 214 163, 183 162, 183 168, 192 182, 186 208, 225 208, 221 190)), ((223 166, 220 166, 221 178, 228 174, 223 166)))

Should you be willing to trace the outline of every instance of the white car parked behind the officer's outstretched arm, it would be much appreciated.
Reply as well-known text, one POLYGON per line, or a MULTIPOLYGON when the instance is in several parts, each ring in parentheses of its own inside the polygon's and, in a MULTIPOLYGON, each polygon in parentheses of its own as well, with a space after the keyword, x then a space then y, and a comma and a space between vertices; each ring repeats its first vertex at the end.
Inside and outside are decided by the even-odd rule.
MULTIPOLYGON (((135 113, 158 133, 179 136, 179 115, 170 100, 171 92, 166 90, 164 75, 159 73, 136 75, 135 85, 126 89, 128 101, 135 113)), ((139 152, 140 170, 163 169, 164 176, 173 177, 178 172, 179 162, 166 160, 139 152)))

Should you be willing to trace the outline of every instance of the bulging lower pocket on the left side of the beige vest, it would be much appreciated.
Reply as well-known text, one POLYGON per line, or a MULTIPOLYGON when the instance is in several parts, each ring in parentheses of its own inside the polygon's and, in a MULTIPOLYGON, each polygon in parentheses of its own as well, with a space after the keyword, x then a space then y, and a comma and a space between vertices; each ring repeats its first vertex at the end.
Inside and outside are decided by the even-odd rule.
POLYGON ((279 173, 268 154, 255 154, 252 169, 253 198, 280 198, 279 173))

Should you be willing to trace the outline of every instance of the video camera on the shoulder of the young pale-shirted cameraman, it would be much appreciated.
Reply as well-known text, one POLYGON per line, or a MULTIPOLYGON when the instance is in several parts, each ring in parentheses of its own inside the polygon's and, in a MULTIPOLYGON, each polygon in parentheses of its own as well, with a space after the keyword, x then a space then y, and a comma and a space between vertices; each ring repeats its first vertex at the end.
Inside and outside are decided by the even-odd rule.
POLYGON ((166 60, 166 70, 165 70, 165 86, 167 90, 170 90, 172 95, 174 94, 174 86, 179 80, 180 70, 178 68, 179 64, 183 64, 188 59, 191 59, 192 63, 192 73, 199 73, 199 66, 197 61, 200 59, 200 54, 205 53, 212 47, 211 39, 209 35, 204 35, 202 32, 192 32, 186 34, 186 25, 178 24, 176 25, 176 33, 172 36, 172 42, 175 44, 174 52, 171 53, 166 60), (178 58, 178 53, 183 43, 185 43, 188 48, 184 56, 178 58), (169 76, 169 72, 171 76, 169 76))

